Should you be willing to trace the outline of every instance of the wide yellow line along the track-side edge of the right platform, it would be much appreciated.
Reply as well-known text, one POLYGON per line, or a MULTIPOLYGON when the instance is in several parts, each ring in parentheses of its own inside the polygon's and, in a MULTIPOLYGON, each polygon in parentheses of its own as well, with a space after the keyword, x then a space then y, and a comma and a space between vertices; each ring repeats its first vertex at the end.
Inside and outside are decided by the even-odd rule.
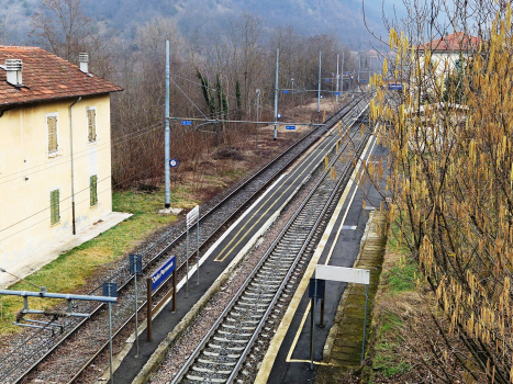
MULTIPOLYGON (((376 145, 376 142, 373 142, 372 148, 373 148, 375 145, 376 145)), ((367 154, 367 151, 369 149, 369 146, 370 146, 370 140, 367 144, 366 148, 364 149, 365 155, 367 154)), ((365 158, 365 155, 364 155, 364 158, 365 158)), ((343 195, 341 196, 339 206, 337 206, 337 208, 335 208, 335 213, 336 213, 337 210, 338 210, 338 213, 339 213, 339 211, 342 211, 342 206, 344 205, 345 201, 347 200, 349 191, 353 188, 353 183, 354 183, 355 177, 357 174, 357 171, 359 170, 360 165, 361 165, 361 161, 358 161, 357 166, 355 167, 355 170, 352 173, 352 177, 349 178, 348 185, 346 187, 343 195)), ((355 189, 353 197, 354 197, 354 195, 356 193, 356 190, 357 189, 355 189)), ((353 200, 353 197, 352 197, 352 200, 353 200)), ((350 207, 350 204, 348 205, 348 207, 350 207)), ((342 228, 342 225, 344 224, 344 222, 345 222, 345 219, 347 217, 348 211, 349 210, 347 208, 345 214, 344 214, 344 217, 343 217, 343 221, 342 221, 342 224, 341 224, 341 228, 342 228)), ((337 218, 333 218, 333 216, 332 216, 332 219, 334 219, 333 225, 335 225, 337 218)), ((328 238, 330 238, 330 234, 325 233, 323 235, 322 239, 321 239, 321 242, 325 244, 328 240, 328 238)), ((321 246, 321 244, 320 244, 320 246, 321 246)), ((317 249, 319 249, 320 246, 317 246, 317 249)), ((333 249, 333 246, 332 246, 332 249, 333 249)), ((313 274, 313 271, 315 269, 315 264, 317 263, 321 256, 322 256, 322 251, 320 251, 317 256, 314 255, 314 257, 312 257, 312 259, 310 260, 309 267, 306 268, 306 271, 305 271, 305 273, 303 275, 303 279, 301 280, 298 289, 295 290, 294 296, 292 297, 292 301, 290 302, 289 308, 287 309, 287 312, 286 312, 286 314, 283 316, 283 319, 281 320, 281 323, 280 323, 280 325, 278 327, 278 330, 276 331, 275 337, 271 340, 271 343, 270 343, 270 346, 268 348, 268 351, 267 351, 266 355, 264 357, 264 361, 261 362, 260 370, 258 371, 258 374, 257 374, 257 377, 256 377, 254 384, 266 384, 267 383, 267 379, 269 377, 270 371, 272 370, 272 365, 275 364, 275 360, 276 360, 276 357, 278 355, 278 351, 280 349, 280 346, 283 342, 285 337, 287 336, 287 332, 288 332, 288 330, 290 328, 290 325, 292 323, 292 319, 294 317, 295 310, 298 309, 299 304, 301 302, 301 298, 303 297, 304 291, 308 287, 310 276, 313 274)), ((306 310, 306 314, 308 314, 308 310, 306 310)), ((301 321, 301 327, 300 328, 302 328, 302 326, 304 326, 304 321, 305 321, 305 316, 303 315, 303 320, 301 321)), ((293 343, 291 346, 292 351, 295 348, 295 345, 298 342, 299 334, 300 334, 300 331, 298 331, 295 334, 293 343)), ((289 355, 292 354, 292 351, 289 351, 288 358, 289 358, 289 355)), ((292 360, 290 360, 288 362, 292 362, 292 360)))

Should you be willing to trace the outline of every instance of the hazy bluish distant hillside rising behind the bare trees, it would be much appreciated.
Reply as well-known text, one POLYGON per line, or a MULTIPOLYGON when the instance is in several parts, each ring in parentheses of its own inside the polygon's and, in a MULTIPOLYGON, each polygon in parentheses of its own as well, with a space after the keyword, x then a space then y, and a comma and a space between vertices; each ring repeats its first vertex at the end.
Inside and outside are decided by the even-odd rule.
MULTIPOLYGON (((26 42, 30 15, 42 0, 0 0, 0 16, 15 27, 11 37, 26 42)), ((388 0, 392 1, 392 0, 388 0)), ((303 35, 335 34, 357 48, 371 39, 364 25, 361 0, 81 0, 85 13, 105 29, 130 37, 137 24, 171 16, 182 34, 210 33, 243 12, 259 15, 268 26, 289 26, 303 35)), ((366 2, 368 26, 383 34, 381 1, 366 2)), ((390 9, 390 7, 389 7, 390 9)))

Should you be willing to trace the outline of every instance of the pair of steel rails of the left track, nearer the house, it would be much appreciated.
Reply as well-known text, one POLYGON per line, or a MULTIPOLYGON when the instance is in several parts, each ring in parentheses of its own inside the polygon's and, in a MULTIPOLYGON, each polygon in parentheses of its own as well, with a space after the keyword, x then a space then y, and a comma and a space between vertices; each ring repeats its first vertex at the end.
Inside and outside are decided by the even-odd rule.
MULTIPOLYGON (((328 123, 331 120, 339 120, 342 117, 344 117, 347 113, 349 113, 356 105, 358 105, 358 103, 364 100, 367 95, 364 94, 361 95, 361 98, 359 99, 354 99, 352 101, 349 101, 347 104, 345 104, 343 108, 341 108, 339 111, 337 111, 335 114, 333 114, 328 120, 326 120, 326 123, 324 125, 321 125, 321 126, 317 126, 315 129, 312 129, 311 132, 309 132, 308 134, 303 135, 298 142, 295 142, 294 144, 292 144, 289 148, 287 148, 283 153, 281 153, 280 155, 278 155, 276 158, 274 158, 271 161, 269 161, 266 166, 264 166, 263 168, 260 168, 256 173, 254 173, 249 179, 247 179, 246 181, 244 181, 241 185, 238 185, 235 190, 233 190, 230 194, 227 194, 225 197, 223 197, 223 200, 221 200, 218 204, 215 204, 212 208, 210 208, 207 213, 204 213, 201 217, 200 217, 200 221, 203 221, 204 218, 209 217, 210 215, 212 215, 221 205, 223 205, 224 203, 226 203, 234 194, 241 192, 244 188, 246 188, 250 182, 253 182, 255 179, 257 179, 263 172, 265 172, 266 170, 270 169, 275 163, 277 163, 280 159, 282 159, 285 156, 287 156, 289 153, 291 153, 294 148, 297 148, 300 144, 304 143, 304 140, 306 140, 309 137, 313 136, 314 134, 316 133, 324 133, 328 129, 332 128, 332 126, 330 125, 333 125, 333 123, 328 123), (330 127, 328 127, 330 126, 330 127)), ((230 222, 231 219, 233 219, 233 216, 235 216, 236 214, 238 214, 238 212, 241 212, 245 206, 247 206, 248 202, 252 201, 255 195, 257 195, 259 192, 261 192, 264 189, 266 189, 275 179, 276 177, 283 170, 283 169, 287 169, 287 167, 289 167, 293 161, 295 161, 299 157, 302 156, 302 154, 304 154, 304 151, 312 145, 314 145, 321 137, 322 135, 319 135, 309 146, 306 146, 305 148, 303 148, 299 154, 297 154, 292 159, 290 159, 281 169, 277 170, 277 172, 275 174, 272 174, 270 177, 270 179, 264 183, 255 193, 253 193, 247 200, 246 202, 244 202, 237 210, 235 210, 235 212, 230 215, 228 218, 226 218, 223 224, 221 224, 216 229, 213 230, 213 233, 200 245, 200 248, 203 247, 207 242, 209 242, 211 240, 211 238, 213 236, 215 236, 219 230, 224 226, 226 225, 227 222, 230 222)), ((143 267, 143 270, 146 270, 150 267, 153 267, 153 264, 155 262, 158 261, 158 259, 161 258, 163 255, 167 253, 177 242, 179 242, 180 240, 183 239, 183 237, 186 236, 186 231, 182 231, 180 235, 178 235, 175 240, 172 240, 168 246, 166 246, 164 249, 161 249, 159 252, 157 252, 157 255, 155 257, 153 257, 144 267, 143 267)), ((154 247, 155 248, 155 247, 154 247)), ((191 252, 191 256, 189 256, 189 259, 190 258, 193 258, 193 255, 194 252, 191 252)), ((186 264, 186 261, 182 261, 182 263, 178 267, 178 270, 180 271, 183 266, 186 264)), ((119 276, 119 274, 116 275, 113 275, 109 279, 109 281, 115 279, 116 276, 119 276)), ((133 280, 133 276, 131 276, 130 279, 125 280, 121 285, 120 287, 118 289, 118 292, 120 293, 121 291, 124 290, 124 287, 131 283, 133 280)), ((164 286, 165 284, 161 284, 161 287, 164 286)), ((97 289, 94 289, 93 291, 91 292, 94 292, 97 289)), ((154 294, 157 294, 158 292, 156 291, 154 294)), ((85 323, 87 323, 92 316, 97 315, 102 308, 103 308, 103 304, 102 305, 99 305, 97 306, 91 313, 90 313, 90 317, 89 318, 85 318, 82 320, 80 320, 79 323, 77 323, 77 325, 68 331, 68 334, 63 338, 60 339, 58 342, 56 342, 54 346, 52 346, 48 351, 45 352, 44 355, 42 355, 40 359, 37 359, 37 361, 35 363, 33 363, 27 370, 25 370, 18 379, 15 379, 15 381, 13 383, 20 383, 22 380, 24 380, 30 373, 32 373, 35 368, 41 364, 44 360, 46 360, 58 347, 60 347, 66 340, 68 340, 73 335, 75 335, 82 326, 85 323)), ((140 312, 143 309, 144 307, 144 304, 140 307, 140 312)), ((134 318, 135 315, 132 315, 130 316, 130 318, 123 323, 123 325, 119 328, 119 330, 114 334, 114 335, 119 335, 121 332, 121 330, 134 318)), ((105 343, 90 360, 94 360, 102 351, 104 348, 107 348, 108 343, 105 343)), ((22 362, 21 362, 22 363, 22 362)), ((19 366, 21 363, 16 364, 16 366, 19 366)), ((90 363, 90 362, 89 362, 90 363)), ((83 369, 87 368, 88 364, 85 364, 83 369)), ((14 369, 16 369, 16 366, 14 366, 14 369)), ((13 370, 14 370, 13 369, 13 370)), ((81 371, 83 371, 83 369, 81 371)), ((81 374, 81 372, 79 373, 81 374)), ((79 374, 77 374, 76 376, 78 377, 79 374)), ((74 380, 76 380, 76 377, 74 377, 74 380)), ((73 383, 73 381, 70 381, 70 383, 73 383)))

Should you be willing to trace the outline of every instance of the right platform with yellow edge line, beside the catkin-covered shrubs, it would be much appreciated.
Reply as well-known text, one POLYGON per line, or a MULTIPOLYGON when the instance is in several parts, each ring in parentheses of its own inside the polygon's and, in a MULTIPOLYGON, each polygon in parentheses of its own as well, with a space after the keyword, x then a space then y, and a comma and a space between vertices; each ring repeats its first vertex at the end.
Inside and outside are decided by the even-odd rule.
MULTIPOLYGON (((373 157, 382 156, 383 148, 373 142, 373 144, 369 144, 364 157, 368 159, 370 155, 373 157)), ((326 282, 324 327, 319 326, 319 309, 315 317, 313 370, 311 370, 310 359, 311 318, 308 284, 310 278, 313 276, 315 264, 356 267, 355 261, 360 252, 360 244, 363 242, 369 214, 375 207, 379 207, 381 202, 381 196, 371 185, 368 185, 366 190, 361 190, 356 185, 356 172, 357 169, 353 173, 350 182, 346 185, 335 213, 310 261, 306 273, 304 273, 294 297, 270 341, 270 347, 258 371, 256 384, 313 383, 317 369, 331 364, 330 360, 326 359, 326 352, 328 352, 326 349, 331 348, 328 337, 333 337, 333 335, 330 336, 330 331, 335 323, 341 297, 347 284, 326 282), (366 208, 363 207, 364 200, 366 201, 366 208)), ((364 325, 354 328, 363 332, 364 325)), ((356 338, 361 340, 363 335, 357 335, 356 338)), ((333 342, 333 340, 331 341, 333 342)), ((359 341, 356 355, 359 357, 360 353, 361 341, 359 341)))

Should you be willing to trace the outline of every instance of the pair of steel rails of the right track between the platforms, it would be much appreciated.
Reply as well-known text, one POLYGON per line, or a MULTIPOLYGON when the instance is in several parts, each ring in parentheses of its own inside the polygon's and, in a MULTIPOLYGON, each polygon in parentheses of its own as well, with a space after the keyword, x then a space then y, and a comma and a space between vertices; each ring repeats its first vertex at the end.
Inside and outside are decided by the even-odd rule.
MULTIPOLYGON (((356 118, 355 118, 356 121, 356 118)), ((368 137, 368 135, 367 135, 368 137)), ((360 143, 358 149, 360 147, 363 147, 363 143, 360 143)), ((344 151, 346 149, 346 147, 348 146, 348 143, 345 145, 344 148, 341 149, 341 153, 344 151)), ((358 153, 358 157, 359 157, 359 153, 358 153)), ((335 161, 338 160, 338 156, 335 156, 334 159, 330 162, 331 166, 333 166, 333 163, 335 161)), ((347 166, 346 166, 346 170, 353 168, 353 165, 352 162, 349 162, 347 166)), ((310 230, 308 237, 306 237, 306 240, 303 242, 303 246, 301 247, 300 251, 298 252, 298 256, 295 257, 291 268, 289 269, 286 278, 283 279, 282 283, 280 284, 277 293, 275 294, 272 301, 271 301, 271 305, 269 305, 268 309, 266 310, 265 313, 265 318, 263 318, 256 330, 253 332, 253 337, 252 339, 249 340, 249 346, 247 346, 244 350, 244 352, 247 354, 247 352, 249 351, 250 347, 253 346, 253 342, 256 338, 256 336, 259 334, 259 330, 261 329, 261 326, 264 325, 264 323, 267 320, 267 317, 268 317, 268 314, 269 312, 272 309, 276 301, 279 298, 279 296, 281 295, 281 292, 282 292, 282 289, 285 286, 285 284, 288 282, 289 278, 290 278, 290 274, 292 273, 293 269, 295 268, 299 259, 301 258, 304 249, 308 247, 314 231, 316 230, 316 227, 319 225, 319 223, 321 222, 321 219, 323 218, 323 215, 325 213, 325 211, 327 210, 327 206, 330 205, 330 203, 332 202, 333 200, 333 196, 335 195, 339 184, 342 183, 343 180, 346 179, 346 176, 347 176, 347 172, 348 171, 345 171, 344 174, 339 178, 338 182, 336 183, 335 188, 333 189, 325 206, 323 207, 323 211, 321 212, 314 227, 310 230)), ((301 205, 298 207, 298 210, 295 211, 295 213, 293 214, 293 216, 289 219, 289 222, 287 223, 287 225, 285 226, 285 228, 280 231, 280 234, 278 235, 278 237, 275 239, 275 241, 272 242, 272 245, 269 247, 269 249, 266 251, 266 253, 264 255, 264 257, 260 259, 260 261, 255 266, 255 268, 253 269, 253 271, 250 272, 250 274, 247 276, 246 281, 244 282, 244 284, 239 287, 239 290, 236 292, 236 294, 234 295, 234 297, 230 301, 230 303, 226 305, 225 309, 223 310, 223 313, 219 316, 218 320, 214 323, 214 325, 210 328, 210 330, 207 332, 207 335, 203 337, 203 339, 201 340, 200 345, 198 345, 198 347, 194 349, 194 351, 191 353, 191 355, 189 357, 189 359, 187 360, 187 362, 182 365, 182 368, 180 369, 180 371, 176 374, 176 376, 174 377, 174 380, 171 381, 171 384, 177 384, 179 383, 185 374, 189 371, 189 369, 192 366, 192 363, 196 361, 196 359, 199 357, 199 354, 201 353, 201 351, 205 348, 207 343, 210 341, 210 339, 212 338, 212 336, 216 332, 216 330, 219 329, 220 325, 222 321, 224 321, 224 319, 226 318, 227 314, 233 309, 233 307, 235 306, 235 304, 238 302, 238 300, 241 298, 241 296, 243 295, 243 293, 245 292, 245 290, 247 289, 247 286, 249 285, 249 283, 253 281, 253 279, 255 278, 255 275, 259 272, 261 266, 266 262, 267 258, 269 257, 269 255, 275 250, 276 246, 278 245, 278 242, 281 240, 281 238, 285 236, 285 234, 289 230, 289 228, 292 226, 292 224, 294 223, 295 218, 299 216, 299 214, 301 213, 302 208, 309 203, 310 199, 313 196, 313 194, 317 191, 319 187, 322 184, 322 182, 325 180, 325 178, 330 174, 330 170, 327 171, 324 171, 324 173, 322 174, 322 177, 320 178, 320 180, 317 180, 317 182, 315 183, 315 185, 312 188, 312 190, 310 191, 310 193, 306 195, 306 197, 304 199, 304 201, 301 203, 301 205)), ((228 380, 226 381, 226 383, 230 383, 231 380, 233 380, 236 375, 236 372, 238 372, 238 369, 241 366, 241 364, 243 363, 246 354, 242 354, 241 358, 238 358, 237 360, 237 363, 235 365, 235 369, 232 371, 232 374, 231 376, 228 377, 228 380)))

